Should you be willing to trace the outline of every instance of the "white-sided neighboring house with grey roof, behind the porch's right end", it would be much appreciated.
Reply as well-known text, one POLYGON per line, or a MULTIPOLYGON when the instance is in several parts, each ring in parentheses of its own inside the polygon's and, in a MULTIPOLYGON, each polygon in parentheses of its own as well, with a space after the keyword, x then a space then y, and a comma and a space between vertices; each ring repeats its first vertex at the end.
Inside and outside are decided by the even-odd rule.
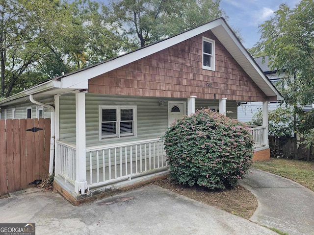
MULTIPOLYGON (((268 77, 270 82, 276 86, 276 83, 279 82, 284 73, 278 74, 277 71, 272 71, 268 67, 268 56, 257 57, 254 58, 255 62, 259 65, 264 74, 268 77)), ((268 110, 272 111, 278 108, 280 105, 279 101, 270 101, 268 102, 268 110)), ((256 114, 259 110, 262 110, 262 102, 239 102, 237 107, 237 119, 240 121, 248 122, 252 120, 254 114, 256 114)))

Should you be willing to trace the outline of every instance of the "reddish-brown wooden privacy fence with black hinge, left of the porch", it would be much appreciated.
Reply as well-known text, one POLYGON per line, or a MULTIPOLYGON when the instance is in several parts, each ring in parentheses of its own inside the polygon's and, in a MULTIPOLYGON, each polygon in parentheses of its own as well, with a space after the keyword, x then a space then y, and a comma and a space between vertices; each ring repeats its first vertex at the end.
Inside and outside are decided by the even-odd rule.
POLYGON ((0 120, 0 194, 49 172, 50 118, 0 120))

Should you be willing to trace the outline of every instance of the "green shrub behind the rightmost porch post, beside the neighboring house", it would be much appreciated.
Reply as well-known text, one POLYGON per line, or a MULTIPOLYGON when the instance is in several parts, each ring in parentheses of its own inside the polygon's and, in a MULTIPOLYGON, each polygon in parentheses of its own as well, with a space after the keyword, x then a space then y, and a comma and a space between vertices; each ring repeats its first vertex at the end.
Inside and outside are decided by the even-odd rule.
MULTIPOLYGON (((262 111, 253 115, 248 125, 262 126, 262 111)), ((268 111, 268 134, 271 136, 288 137, 293 133, 293 110, 292 108, 278 107, 268 111)))

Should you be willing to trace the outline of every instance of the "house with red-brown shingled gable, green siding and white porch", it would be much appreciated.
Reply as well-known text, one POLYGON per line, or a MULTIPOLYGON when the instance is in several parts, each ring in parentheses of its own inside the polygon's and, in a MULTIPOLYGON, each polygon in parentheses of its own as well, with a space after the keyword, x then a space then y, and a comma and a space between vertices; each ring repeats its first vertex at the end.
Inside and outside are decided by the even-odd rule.
POLYGON ((79 200, 167 174, 160 137, 176 118, 204 107, 237 118, 238 102, 262 101, 263 126, 252 134, 256 158, 269 158, 267 104, 281 99, 219 18, 41 83, 0 107, 6 118, 13 110, 15 118, 51 114, 54 185, 79 200))

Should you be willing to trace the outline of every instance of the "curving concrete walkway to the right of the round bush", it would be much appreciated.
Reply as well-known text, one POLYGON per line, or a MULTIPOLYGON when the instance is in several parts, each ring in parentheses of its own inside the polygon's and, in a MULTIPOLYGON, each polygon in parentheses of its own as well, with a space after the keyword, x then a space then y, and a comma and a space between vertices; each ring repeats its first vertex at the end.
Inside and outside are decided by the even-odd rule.
POLYGON ((291 180, 252 169, 241 183, 258 199, 251 221, 289 235, 314 235, 314 192, 291 180))

